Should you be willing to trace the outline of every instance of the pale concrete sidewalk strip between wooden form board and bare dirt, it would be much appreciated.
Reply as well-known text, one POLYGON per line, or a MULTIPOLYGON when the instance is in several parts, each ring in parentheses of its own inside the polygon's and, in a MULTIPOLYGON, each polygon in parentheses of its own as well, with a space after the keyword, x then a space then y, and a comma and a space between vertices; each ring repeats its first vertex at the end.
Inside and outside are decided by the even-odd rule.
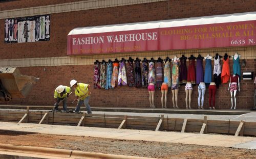
POLYGON ((144 140, 167 143, 196 144, 218 147, 234 147, 256 149, 256 138, 234 137, 226 135, 208 135, 193 133, 174 133, 166 131, 115 129, 99 127, 77 127, 63 125, 45 125, 0 122, 0 129, 13 131, 26 131, 30 133, 86 136, 123 140, 144 140))

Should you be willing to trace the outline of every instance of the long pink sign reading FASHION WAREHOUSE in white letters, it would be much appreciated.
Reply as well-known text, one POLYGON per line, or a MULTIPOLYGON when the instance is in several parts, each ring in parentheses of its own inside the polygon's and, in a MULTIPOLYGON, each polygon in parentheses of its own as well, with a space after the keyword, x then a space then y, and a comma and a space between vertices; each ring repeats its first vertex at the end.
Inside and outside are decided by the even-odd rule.
POLYGON ((67 55, 256 45, 256 20, 68 36, 67 55))

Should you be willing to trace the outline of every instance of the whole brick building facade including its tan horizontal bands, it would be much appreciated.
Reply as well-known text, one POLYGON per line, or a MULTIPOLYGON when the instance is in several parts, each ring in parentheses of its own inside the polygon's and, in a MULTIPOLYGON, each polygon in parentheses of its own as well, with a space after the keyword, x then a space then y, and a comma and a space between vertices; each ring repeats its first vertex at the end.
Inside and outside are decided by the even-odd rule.
MULTIPOLYGON (((241 71, 252 71, 256 74, 256 47, 232 47, 192 50, 167 50, 154 52, 129 52, 112 55, 91 55, 67 57, 67 35, 74 29, 86 26, 98 26, 118 23, 154 21, 164 19, 178 19, 219 14, 232 14, 256 11, 255 1, 10 1, 0 3, 0 21, 5 18, 23 17, 41 14, 51 15, 51 39, 44 42, 31 43, 0 43, 1 67, 19 67, 25 75, 39 77, 39 82, 27 98, 13 99, 10 104, 52 105, 53 91, 58 85, 69 86, 73 78, 79 82, 93 85, 93 62, 98 59, 115 58, 128 59, 129 57, 157 59, 174 55, 189 57, 198 54, 214 56, 217 52, 223 56, 225 53, 233 55, 238 52, 246 66, 241 71), (67 4, 68 3, 68 4, 67 4), (242 3, 242 4, 241 4, 242 3), (64 4, 64 5, 63 5, 64 4), (86 4, 86 5, 82 5, 86 4), (39 7, 38 7, 39 6, 39 7), (62 6, 59 7, 59 6, 62 6), (70 7, 71 6, 71 7, 70 7), (73 8, 72 8, 73 6, 73 8), (78 7, 77 7, 78 6, 78 7), (81 6, 81 7, 79 7, 81 6), (66 8, 65 8, 66 7, 66 8), (53 8, 57 8, 53 10, 53 8), (60 8, 60 9, 59 9, 60 8), (26 11, 27 10, 27 11, 26 11), (44 11, 44 12, 42 12, 44 11)), ((4 39, 4 24, 0 27, 0 38, 4 39)), ((242 60, 240 61, 240 63, 242 60)), ((222 63, 221 63, 222 65, 222 63)), ((188 66, 188 64, 187 64, 188 66)), ((205 66, 205 63, 203 63, 205 66)), ((213 66, 213 61, 212 61, 213 66)), ((232 60, 230 59, 230 73, 232 73, 232 60)), ((237 93, 237 109, 250 109, 253 105, 253 80, 242 80, 241 89, 237 93)), ((198 86, 193 87, 192 108, 197 108, 198 86)), ((216 93, 216 108, 229 109, 231 107, 228 84, 222 84, 216 93)), ((149 107, 148 92, 145 88, 117 87, 111 90, 92 89, 90 99, 91 107, 149 107)), ((73 96, 69 100, 73 99, 73 96)), ((206 89, 204 105, 208 107, 208 89, 206 89)), ((180 108, 185 108, 185 91, 181 86, 178 94, 180 108)), ((161 91, 156 90, 155 104, 161 107, 161 91)), ((167 108, 173 108, 172 92, 167 94, 167 108)))

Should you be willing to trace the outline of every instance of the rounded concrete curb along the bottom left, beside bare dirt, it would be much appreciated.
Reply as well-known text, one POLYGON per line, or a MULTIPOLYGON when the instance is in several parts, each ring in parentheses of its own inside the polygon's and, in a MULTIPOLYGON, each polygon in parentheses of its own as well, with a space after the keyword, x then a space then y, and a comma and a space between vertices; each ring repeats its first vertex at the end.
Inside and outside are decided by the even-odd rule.
POLYGON ((96 153, 96 152, 84 152, 84 151, 46 148, 46 147, 15 146, 10 144, 0 144, 0 150, 5 150, 9 152, 28 153, 28 154, 41 154, 41 155, 47 155, 47 156, 71 157, 71 158, 106 158, 106 159, 149 158, 149 157, 140 157, 140 156, 104 154, 104 153, 96 153))

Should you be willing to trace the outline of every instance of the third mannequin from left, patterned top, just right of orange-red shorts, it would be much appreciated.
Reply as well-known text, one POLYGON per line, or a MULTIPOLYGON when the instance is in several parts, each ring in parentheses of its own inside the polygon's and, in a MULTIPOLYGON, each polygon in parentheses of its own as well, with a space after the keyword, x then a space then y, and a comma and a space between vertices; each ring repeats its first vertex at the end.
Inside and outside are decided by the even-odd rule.
POLYGON ((173 59, 173 70, 172 70, 172 93, 173 93, 173 104, 174 108, 178 107, 178 92, 179 92, 179 58, 175 56, 173 59))

